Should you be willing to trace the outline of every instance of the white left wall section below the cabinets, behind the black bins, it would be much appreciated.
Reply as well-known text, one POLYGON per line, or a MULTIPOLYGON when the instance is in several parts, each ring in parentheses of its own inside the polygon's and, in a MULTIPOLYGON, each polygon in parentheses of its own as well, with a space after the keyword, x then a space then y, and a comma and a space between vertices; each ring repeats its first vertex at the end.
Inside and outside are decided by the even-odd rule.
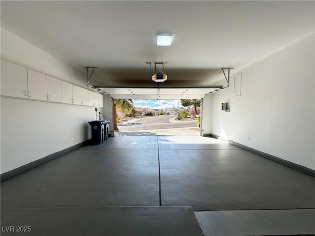
POLYGON ((95 108, 1 98, 1 174, 91 138, 95 108))

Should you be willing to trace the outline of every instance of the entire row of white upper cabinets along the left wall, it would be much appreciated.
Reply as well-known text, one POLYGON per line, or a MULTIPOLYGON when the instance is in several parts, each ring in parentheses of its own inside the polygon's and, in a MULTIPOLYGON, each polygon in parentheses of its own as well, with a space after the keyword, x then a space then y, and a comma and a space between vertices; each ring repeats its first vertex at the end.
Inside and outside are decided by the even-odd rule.
POLYGON ((1 95, 103 107, 103 95, 1 59, 1 95))

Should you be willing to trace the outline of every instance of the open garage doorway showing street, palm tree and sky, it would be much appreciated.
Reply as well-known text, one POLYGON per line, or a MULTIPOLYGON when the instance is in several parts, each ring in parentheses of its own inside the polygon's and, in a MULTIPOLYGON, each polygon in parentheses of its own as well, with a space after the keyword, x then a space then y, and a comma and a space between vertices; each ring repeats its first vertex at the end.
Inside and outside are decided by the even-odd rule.
POLYGON ((115 136, 200 136, 201 99, 113 99, 115 136))

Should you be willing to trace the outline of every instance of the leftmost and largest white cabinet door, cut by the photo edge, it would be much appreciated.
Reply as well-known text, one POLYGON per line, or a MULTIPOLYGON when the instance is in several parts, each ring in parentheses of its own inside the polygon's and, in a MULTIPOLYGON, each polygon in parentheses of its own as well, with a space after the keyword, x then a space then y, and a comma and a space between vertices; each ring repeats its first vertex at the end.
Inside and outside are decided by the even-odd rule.
POLYGON ((1 59, 1 95, 27 98, 26 67, 1 59))

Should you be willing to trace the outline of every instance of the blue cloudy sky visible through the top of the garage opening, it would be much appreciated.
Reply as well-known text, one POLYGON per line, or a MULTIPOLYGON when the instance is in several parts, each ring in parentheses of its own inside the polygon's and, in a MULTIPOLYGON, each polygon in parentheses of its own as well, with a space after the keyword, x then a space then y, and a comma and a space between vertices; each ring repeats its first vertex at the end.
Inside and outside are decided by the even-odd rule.
POLYGON ((180 99, 133 99, 133 106, 152 109, 171 110, 181 108, 180 99))

